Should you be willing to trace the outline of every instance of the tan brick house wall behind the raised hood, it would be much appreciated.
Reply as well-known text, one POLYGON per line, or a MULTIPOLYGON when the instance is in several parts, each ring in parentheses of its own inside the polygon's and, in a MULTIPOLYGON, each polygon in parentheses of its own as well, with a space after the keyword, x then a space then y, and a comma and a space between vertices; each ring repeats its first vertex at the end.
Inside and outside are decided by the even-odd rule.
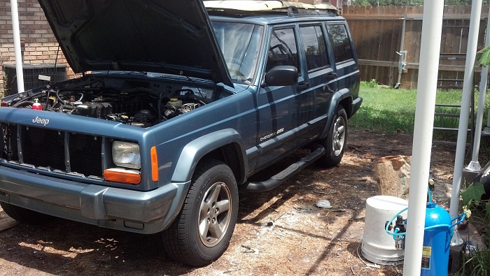
MULTIPOLYGON (((22 62, 66 64, 66 59, 36 0, 18 0, 22 62)), ((10 0, 0 0, 0 93, 3 92, 3 64, 15 64, 10 0)), ((73 78, 69 69, 68 78, 73 78)))

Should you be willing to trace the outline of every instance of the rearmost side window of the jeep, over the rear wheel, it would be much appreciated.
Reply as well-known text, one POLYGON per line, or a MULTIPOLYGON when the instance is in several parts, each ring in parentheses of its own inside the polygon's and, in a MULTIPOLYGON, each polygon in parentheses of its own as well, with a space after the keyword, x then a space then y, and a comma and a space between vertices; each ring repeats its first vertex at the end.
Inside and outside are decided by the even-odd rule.
POLYGON ((339 63, 349 59, 353 59, 351 41, 347 35, 347 30, 344 24, 327 24, 328 36, 332 43, 335 62, 339 63))

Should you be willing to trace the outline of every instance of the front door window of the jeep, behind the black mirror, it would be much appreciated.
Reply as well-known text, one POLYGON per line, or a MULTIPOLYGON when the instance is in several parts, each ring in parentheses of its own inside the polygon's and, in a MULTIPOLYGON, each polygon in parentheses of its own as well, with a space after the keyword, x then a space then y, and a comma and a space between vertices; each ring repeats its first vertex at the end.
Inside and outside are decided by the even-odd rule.
POLYGON ((272 67, 279 65, 295 66, 299 71, 299 64, 294 29, 273 30, 270 38, 265 71, 269 71, 272 67))

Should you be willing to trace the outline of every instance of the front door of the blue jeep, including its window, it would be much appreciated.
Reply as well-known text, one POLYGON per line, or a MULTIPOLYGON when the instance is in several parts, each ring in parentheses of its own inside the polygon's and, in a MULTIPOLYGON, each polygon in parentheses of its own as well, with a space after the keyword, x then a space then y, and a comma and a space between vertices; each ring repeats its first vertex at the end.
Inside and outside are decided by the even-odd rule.
POLYGON ((295 26, 272 30, 265 72, 280 65, 295 66, 300 77, 296 85, 262 87, 258 94, 258 168, 281 158, 302 145, 313 116, 313 98, 298 51, 295 26))

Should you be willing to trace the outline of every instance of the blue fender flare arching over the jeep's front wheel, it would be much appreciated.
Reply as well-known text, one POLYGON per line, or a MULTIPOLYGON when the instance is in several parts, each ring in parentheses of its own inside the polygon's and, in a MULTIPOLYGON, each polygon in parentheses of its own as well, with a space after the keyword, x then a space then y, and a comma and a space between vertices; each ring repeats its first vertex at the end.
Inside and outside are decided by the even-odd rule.
POLYGON ((177 161, 172 182, 186 182, 193 177, 200 161, 213 158, 230 167, 237 183, 245 182, 246 153, 240 134, 235 129, 223 129, 201 136, 188 143, 177 161))

